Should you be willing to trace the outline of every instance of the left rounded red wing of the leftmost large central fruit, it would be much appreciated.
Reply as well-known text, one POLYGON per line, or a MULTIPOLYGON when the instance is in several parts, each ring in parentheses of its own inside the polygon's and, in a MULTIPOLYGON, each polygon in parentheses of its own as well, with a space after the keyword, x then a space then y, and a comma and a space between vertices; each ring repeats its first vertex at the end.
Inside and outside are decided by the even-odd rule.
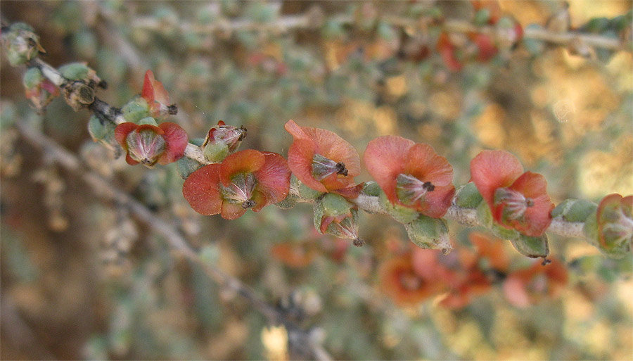
POLYGON ((219 170, 219 163, 205 165, 185 179, 182 195, 191 208, 200 214, 217 215, 222 210, 219 170))

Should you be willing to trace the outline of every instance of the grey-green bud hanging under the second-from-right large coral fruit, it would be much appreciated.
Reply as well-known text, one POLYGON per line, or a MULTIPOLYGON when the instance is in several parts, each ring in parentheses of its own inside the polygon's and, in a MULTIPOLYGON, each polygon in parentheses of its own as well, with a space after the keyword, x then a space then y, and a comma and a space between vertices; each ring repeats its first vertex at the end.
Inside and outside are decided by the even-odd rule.
POLYGON ((409 239, 420 248, 440 249, 445 255, 451 249, 448 226, 442 218, 420 215, 413 222, 404 224, 409 239))

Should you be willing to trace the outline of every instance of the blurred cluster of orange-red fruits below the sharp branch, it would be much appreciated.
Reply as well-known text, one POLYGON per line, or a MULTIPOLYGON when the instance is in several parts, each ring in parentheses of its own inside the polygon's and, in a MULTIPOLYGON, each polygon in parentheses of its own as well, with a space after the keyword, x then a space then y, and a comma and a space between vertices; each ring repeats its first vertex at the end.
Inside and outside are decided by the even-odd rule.
POLYGON ((463 308, 502 282, 509 303, 526 307, 557 296, 567 283, 567 271, 558 260, 509 272, 504 241, 478 233, 471 233, 470 239, 475 251, 459 248, 442 255, 412 248, 387 260, 379 271, 383 291, 398 305, 416 305, 437 296, 445 308, 463 308))

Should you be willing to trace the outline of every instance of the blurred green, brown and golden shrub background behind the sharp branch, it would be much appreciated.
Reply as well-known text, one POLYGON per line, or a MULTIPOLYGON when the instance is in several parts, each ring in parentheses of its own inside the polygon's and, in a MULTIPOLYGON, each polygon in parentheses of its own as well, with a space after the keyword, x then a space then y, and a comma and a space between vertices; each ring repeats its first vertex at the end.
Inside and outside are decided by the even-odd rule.
MULTIPOLYGON (((428 143, 452 163, 456 186, 468 182, 473 156, 499 148, 545 175, 554 203, 633 194, 631 51, 524 39, 487 56, 467 34, 443 32, 440 21, 500 26, 476 17, 485 8, 523 29, 618 37, 599 23, 631 18, 632 4, 495 4, 2 1, 1 14, 35 28, 51 65, 87 61, 108 82, 99 97, 114 106, 139 94, 153 70, 179 107, 171 121, 191 139, 224 120, 248 129, 242 148, 286 156, 292 138, 283 124, 293 119, 336 132, 361 158, 385 134, 428 143), (448 47, 438 45, 443 34, 448 47)), ((231 222, 203 217, 182 198, 176 164, 129 167, 91 141, 89 113, 73 112, 63 99, 37 112, 25 99, 24 70, 3 53, 2 359, 314 358, 126 207, 101 201, 77 174, 23 141, 16 123, 47 134, 159 220, 175 220, 205 262, 252 287, 335 359, 633 354, 628 258, 610 260, 581 239, 551 236, 558 268, 543 272, 508 242, 456 223, 449 226, 457 249, 443 257, 411 251, 401 224, 366 213, 360 236, 367 244, 355 248, 318 234, 307 204, 231 222), (411 293, 423 289, 419 269, 430 265, 450 270, 459 287, 411 293), (529 297, 513 297, 520 291, 529 297)), ((366 172, 357 179, 370 180, 366 172)))

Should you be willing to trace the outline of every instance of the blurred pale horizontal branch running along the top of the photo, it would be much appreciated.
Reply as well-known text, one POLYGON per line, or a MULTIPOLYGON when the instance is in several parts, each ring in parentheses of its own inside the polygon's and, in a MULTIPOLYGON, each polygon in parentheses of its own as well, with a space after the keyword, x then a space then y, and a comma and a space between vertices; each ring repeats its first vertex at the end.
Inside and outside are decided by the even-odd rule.
MULTIPOLYGON (((329 17, 343 25, 353 25, 356 21, 352 15, 331 15, 329 17)), ((411 18, 402 18, 399 16, 385 15, 381 20, 396 27, 418 27, 418 20, 411 18)), ((235 31, 260 31, 260 32, 288 32, 290 30, 309 30, 319 28, 319 17, 314 13, 308 12, 302 15, 283 15, 271 23, 257 23, 248 19, 237 20, 219 20, 216 23, 208 25, 198 25, 193 23, 181 22, 172 24, 181 32, 194 32, 201 34, 212 34, 216 32, 230 33, 235 31)), ((475 26, 464 20, 447 19, 440 26, 447 32, 480 32, 484 34, 492 34, 495 32, 494 27, 475 26)), ((134 21, 132 27, 139 29, 152 30, 161 32, 165 28, 165 23, 151 17, 141 17, 134 21)), ((536 39, 543 42, 559 45, 570 45, 574 42, 581 42, 587 46, 592 46, 608 50, 625 50, 633 51, 632 44, 624 44, 620 39, 613 37, 605 37, 598 34, 587 34, 582 32, 551 32, 545 29, 524 29, 523 37, 525 39, 536 39)))

